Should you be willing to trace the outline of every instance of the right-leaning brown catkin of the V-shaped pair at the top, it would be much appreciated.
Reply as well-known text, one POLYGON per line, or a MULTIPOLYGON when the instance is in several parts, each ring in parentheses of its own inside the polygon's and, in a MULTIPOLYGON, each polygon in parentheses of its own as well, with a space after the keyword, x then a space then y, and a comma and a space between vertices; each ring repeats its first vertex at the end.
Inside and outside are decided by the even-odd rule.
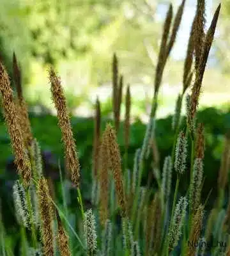
POLYGON ((176 41, 176 36, 177 36, 178 30, 180 28, 180 23, 181 23, 181 18, 183 15, 184 7, 185 7, 185 0, 182 1, 181 5, 178 8, 178 12, 176 13, 176 17, 175 17, 175 20, 173 23, 173 31, 172 31, 169 43, 167 45, 167 53, 166 53, 167 56, 169 56, 169 54, 173 48, 174 42, 176 41))

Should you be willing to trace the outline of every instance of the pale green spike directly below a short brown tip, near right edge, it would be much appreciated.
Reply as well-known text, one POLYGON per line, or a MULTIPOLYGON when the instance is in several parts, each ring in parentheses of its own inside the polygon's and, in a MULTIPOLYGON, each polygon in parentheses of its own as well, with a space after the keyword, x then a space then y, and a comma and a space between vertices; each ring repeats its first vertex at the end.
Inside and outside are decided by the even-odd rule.
POLYGON ((193 172, 192 172, 192 180, 190 184, 190 207, 192 207, 192 211, 195 211, 199 206, 201 200, 201 187, 203 181, 203 161, 200 158, 195 158, 193 172))

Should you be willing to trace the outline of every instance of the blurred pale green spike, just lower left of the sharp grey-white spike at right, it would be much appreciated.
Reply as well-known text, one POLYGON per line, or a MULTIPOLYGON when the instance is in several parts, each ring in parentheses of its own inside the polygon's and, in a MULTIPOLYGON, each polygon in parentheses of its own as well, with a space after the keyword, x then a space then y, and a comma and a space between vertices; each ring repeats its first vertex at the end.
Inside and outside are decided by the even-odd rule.
POLYGON ((171 193, 173 163, 171 156, 165 157, 162 173, 162 195, 167 201, 171 193))

